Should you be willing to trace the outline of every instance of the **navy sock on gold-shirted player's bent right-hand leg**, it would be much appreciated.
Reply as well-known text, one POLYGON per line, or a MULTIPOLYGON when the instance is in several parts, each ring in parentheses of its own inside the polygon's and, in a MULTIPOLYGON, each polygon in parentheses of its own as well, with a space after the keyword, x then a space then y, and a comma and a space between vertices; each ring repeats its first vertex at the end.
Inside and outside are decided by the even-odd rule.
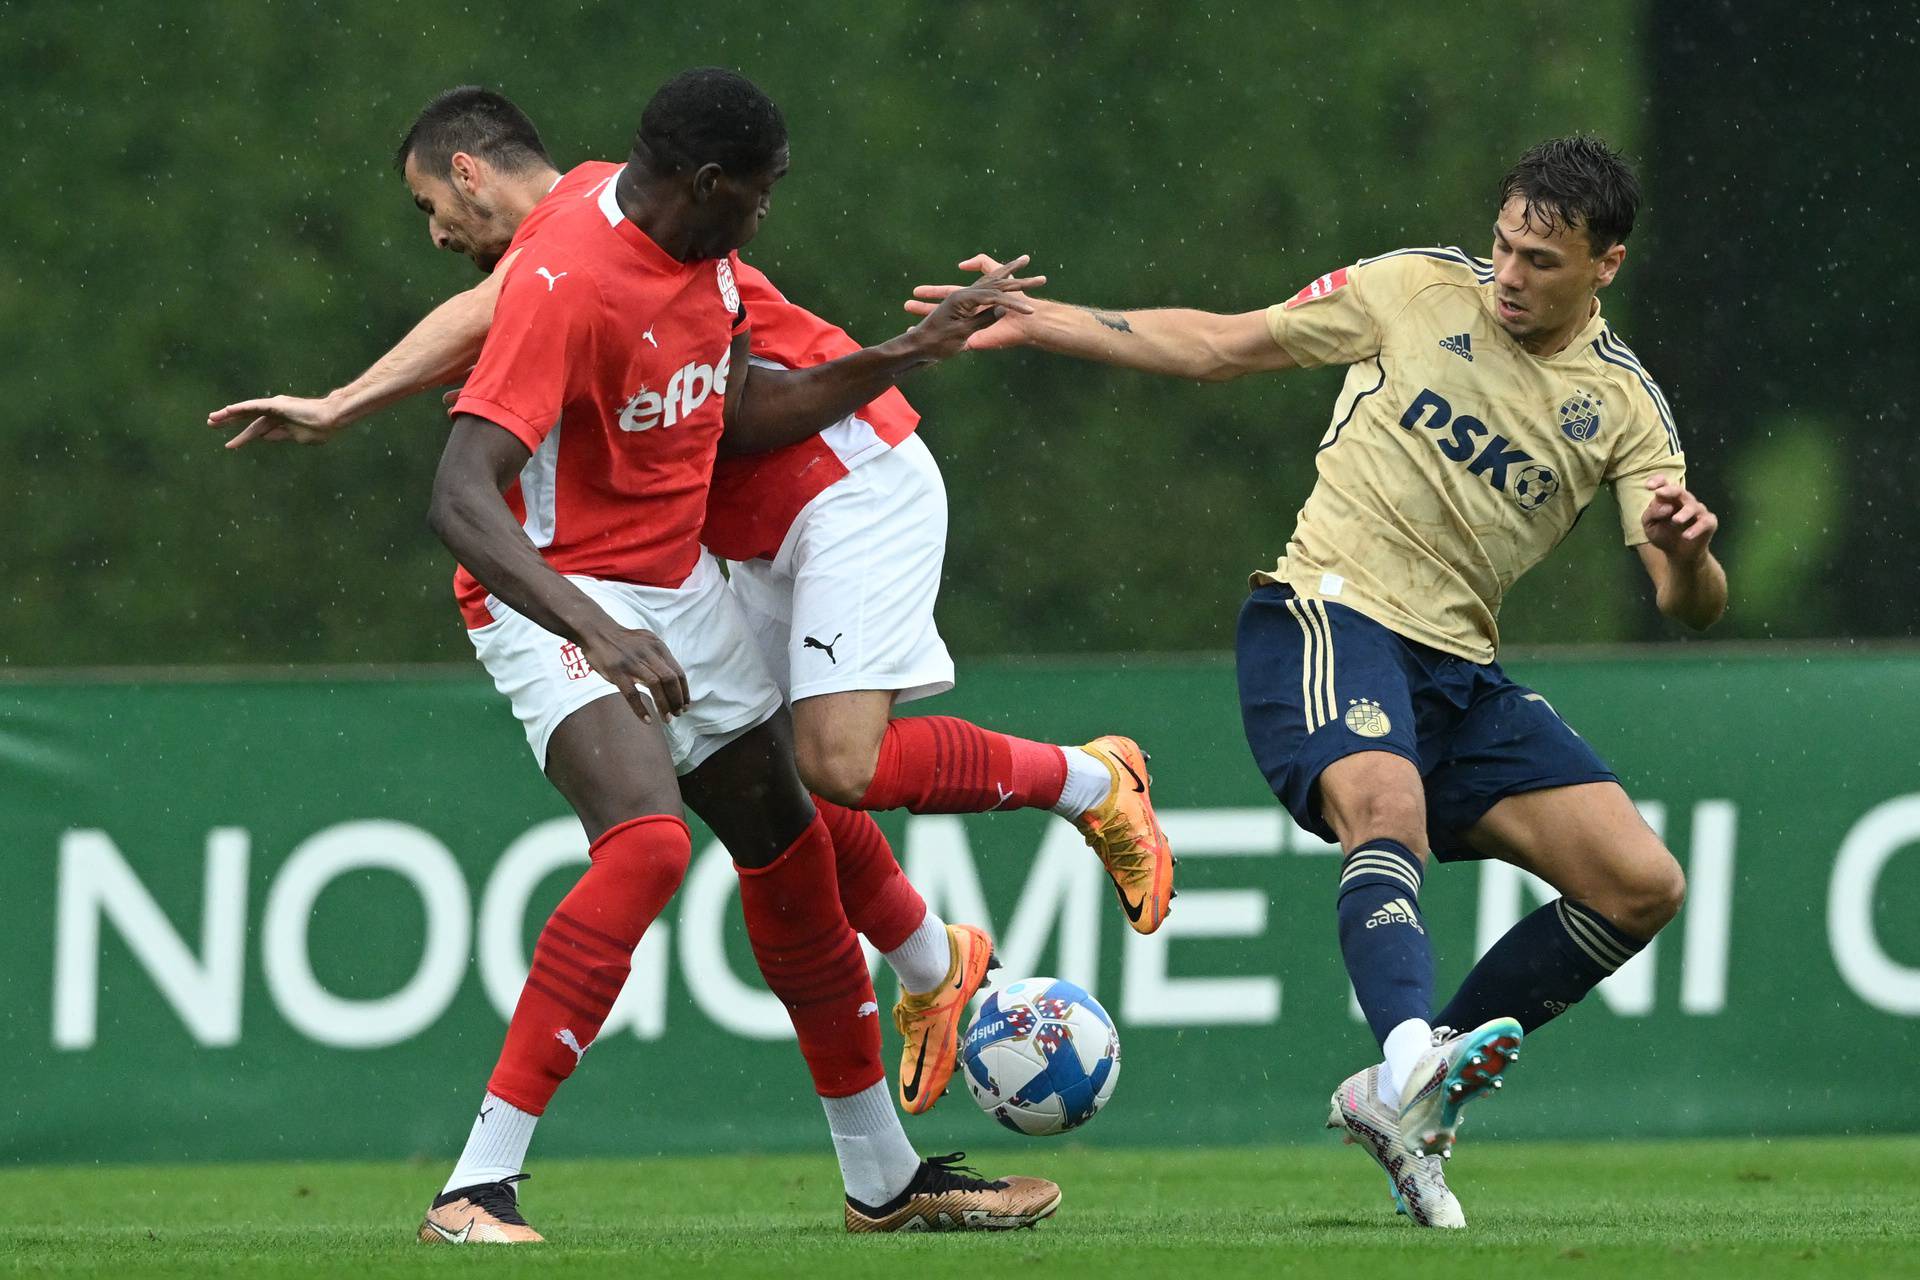
MULTIPOLYGON (((1344 917, 1342 917, 1344 919, 1344 917)), ((1555 898, 1494 942, 1453 1000, 1434 1021, 1478 1027, 1515 1017, 1528 1034, 1580 1004, 1603 977, 1640 954, 1645 942, 1615 929, 1590 906, 1555 898)), ((1348 961, 1352 967, 1352 961, 1348 961)))

